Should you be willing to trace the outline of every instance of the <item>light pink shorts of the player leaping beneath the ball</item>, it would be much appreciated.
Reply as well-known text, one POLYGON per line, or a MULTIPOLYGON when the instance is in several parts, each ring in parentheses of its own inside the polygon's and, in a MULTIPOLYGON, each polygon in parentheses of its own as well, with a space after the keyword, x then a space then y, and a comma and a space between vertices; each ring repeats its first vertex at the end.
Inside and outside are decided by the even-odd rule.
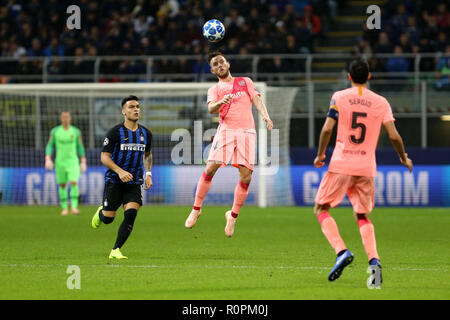
POLYGON ((254 129, 223 129, 214 136, 208 161, 231 164, 238 168, 243 165, 250 170, 255 167, 256 131, 254 129))

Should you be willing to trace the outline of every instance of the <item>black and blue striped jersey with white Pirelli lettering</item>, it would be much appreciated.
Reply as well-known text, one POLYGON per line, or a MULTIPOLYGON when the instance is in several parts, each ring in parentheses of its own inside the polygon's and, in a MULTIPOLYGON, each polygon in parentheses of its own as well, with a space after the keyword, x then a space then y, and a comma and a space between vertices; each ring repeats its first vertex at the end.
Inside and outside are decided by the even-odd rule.
MULTIPOLYGON (((133 181, 127 184, 142 184, 145 172, 144 152, 150 151, 151 143, 152 133, 146 127, 138 125, 136 131, 131 131, 122 123, 108 131, 102 152, 111 153, 111 160, 133 175, 133 181)), ((124 183, 111 169, 105 173, 105 182, 124 183)))

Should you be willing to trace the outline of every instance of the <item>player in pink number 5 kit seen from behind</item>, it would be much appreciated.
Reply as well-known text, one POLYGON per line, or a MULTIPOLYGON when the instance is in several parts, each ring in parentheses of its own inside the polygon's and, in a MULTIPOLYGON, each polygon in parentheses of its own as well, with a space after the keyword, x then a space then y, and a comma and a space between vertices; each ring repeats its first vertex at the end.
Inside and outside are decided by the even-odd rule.
POLYGON ((367 89, 367 81, 371 77, 367 61, 352 61, 349 72, 348 78, 352 87, 333 94, 327 119, 320 133, 317 157, 314 159, 316 168, 324 166, 325 150, 339 119, 336 145, 328 172, 317 191, 314 213, 322 232, 337 254, 336 263, 328 276, 329 281, 334 281, 353 261, 353 253, 347 249, 335 220, 329 214, 330 207, 339 205, 347 193, 369 259, 369 268, 375 277, 378 277, 374 277, 373 282, 381 284, 381 263, 375 231, 368 217, 375 205, 375 149, 381 125, 385 127, 400 157, 400 163, 410 172, 413 163, 405 153, 403 140, 395 127, 388 101, 367 89))

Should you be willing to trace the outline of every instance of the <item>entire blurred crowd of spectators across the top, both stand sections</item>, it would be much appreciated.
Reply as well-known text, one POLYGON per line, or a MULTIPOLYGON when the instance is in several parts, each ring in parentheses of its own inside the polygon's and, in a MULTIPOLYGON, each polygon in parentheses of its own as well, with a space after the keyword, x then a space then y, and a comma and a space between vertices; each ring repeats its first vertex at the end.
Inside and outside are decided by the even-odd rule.
MULTIPOLYGON (((227 55, 313 53, 345 5, 345 0, 0 0, 0 54, 15 59, 0 60, 0 73, 40 75, 45 68, 50 76, 93 74, 97 56, 203 55, 211 49, 227 55), (73 4, 81 9, 80 30, 66 26, 67 7, 73 4), (226 27, 225 39, 218 44, 207 43, 201 33, 203 23, 213 18, 226 27), (42 59, 23 59, 42 56, 51 57, 45 66, 42 59), (66 56, 76 59, 68 61, 66 56)), ((414 59, 403 53, 448 54, 449 6, 440 0, 388 1, 382 6, 382 29, 369 30, 364 24, 354 53, 396 54, 370 59, 373 71, 396 76, 414 68, 414 59)), ((111 58, 97 67, 101 74, 141 75, 147 72, 147 61, 111 58)), ((236 60, 233 70, 248 68, 247 61, 236 60)), ((437 85, 448 85, 450 59, 423 58, 420 69, 436 72, 437 85)), ((152 65, 155 74, 208 71, 201 59, 163 59, 152 65)), ((304 63, 275 58, 258 65, 261 73, 286 71, 304 71, 304 63)))

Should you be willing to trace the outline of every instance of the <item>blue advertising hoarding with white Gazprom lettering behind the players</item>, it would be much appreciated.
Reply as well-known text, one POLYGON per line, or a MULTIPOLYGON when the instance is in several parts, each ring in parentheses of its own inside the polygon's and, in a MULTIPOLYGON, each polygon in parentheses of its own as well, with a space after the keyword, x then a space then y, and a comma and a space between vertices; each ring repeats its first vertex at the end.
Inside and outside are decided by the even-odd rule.
MULTIPOLYGON (((82 203, 97 205, 103 197, 104 167, 90 167, 80 175, 79 191, 82 203)), ((153 187, 144 193, 144 203, 191 205, 195 187, 203 166, 154 166, 153 187)), ((232 167, 218 171, 214 178, 206 204, 229 205, 233 199, 237 172, 232 167), (220 196, 219 196, 220 195, 220 196)), ((276 194, 286 187, 283 195, 291 193, 282 203, 272 205, 312 206, 321 178, 327 168, 316 169, 312 165, 293 165, 267 179, 267 192, 276 194), (291 177, 290 184, 286 183, 291 177), (283 184, 280 184, 282 180, 283 184)), ((254 174, 247 205, 256 205, 258 176, 254 174)), ((44 168, 0 168, 1 204, 57 205, 58 189, 55 174, 44 168)), ((267 197, 270 198, 271 194, 267 197)), ((279 195, 277 195, 279 198, 279 195)), ((269 201, 269 205, 271 202, 269 201)), ((342 206, 349 205, 344 198, 342 206)), ((378 166, 375 178, 376 206, 449 207, 450 166, 417 165, 413 173, 402 166, 378 166)))

